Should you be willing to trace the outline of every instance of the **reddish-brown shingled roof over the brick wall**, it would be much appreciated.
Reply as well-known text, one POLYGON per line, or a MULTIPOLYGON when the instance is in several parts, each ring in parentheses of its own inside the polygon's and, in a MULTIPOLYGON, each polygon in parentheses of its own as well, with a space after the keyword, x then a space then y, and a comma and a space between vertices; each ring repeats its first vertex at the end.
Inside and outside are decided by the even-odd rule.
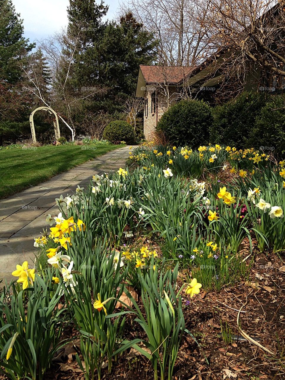
POLYGON ((188 76, 194 67, 186 66, 144 66, 140 65, 146 84, 178 84, 188 76))

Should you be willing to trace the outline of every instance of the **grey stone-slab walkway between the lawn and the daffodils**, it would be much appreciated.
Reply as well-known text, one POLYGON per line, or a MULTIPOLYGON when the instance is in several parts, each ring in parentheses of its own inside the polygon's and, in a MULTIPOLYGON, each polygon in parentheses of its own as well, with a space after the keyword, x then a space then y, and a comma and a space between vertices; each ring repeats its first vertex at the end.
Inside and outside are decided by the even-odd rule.
POLYGON ((87 187, 94 174, 103 174, 124 167, 129 147, 113 150, 87 161, 52 179, 0 200, 0 279, 11 279, 16 264, 35 260, 34 237, 46 225, 48 214, 58 214, 55 198, 75 193, 77 185, 87 187))

